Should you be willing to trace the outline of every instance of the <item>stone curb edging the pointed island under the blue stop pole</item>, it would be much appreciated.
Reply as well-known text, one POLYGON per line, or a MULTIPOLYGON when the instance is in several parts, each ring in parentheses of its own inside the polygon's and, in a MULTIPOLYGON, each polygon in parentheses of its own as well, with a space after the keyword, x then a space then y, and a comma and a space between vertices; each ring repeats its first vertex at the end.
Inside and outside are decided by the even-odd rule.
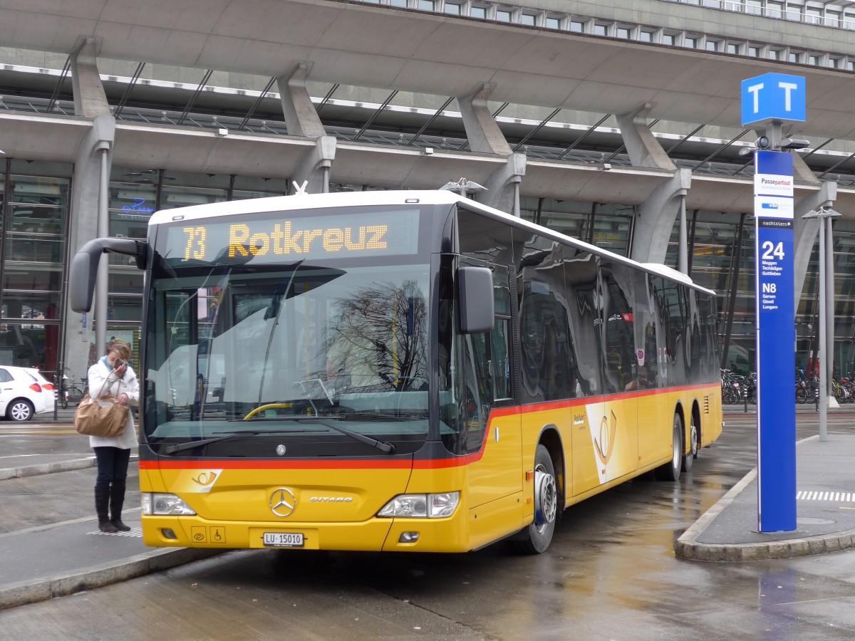
POLYGON ((811 556, 827 552, 839 552, 855 547, 855 530, 846 530, 838 534, 826 534, 815 537, 787 538, 769 543, 703 544, 697 538, 711 524, 716 516, 733 503, 741 491, 757 479, 757 469, 747 473, 745 478, 734 485, 718 503, 708 509, 694 525, 683 532, 674 545, 674 553, 693 561, 761 561, 764 559, 791 559, 797 556, 811 556))

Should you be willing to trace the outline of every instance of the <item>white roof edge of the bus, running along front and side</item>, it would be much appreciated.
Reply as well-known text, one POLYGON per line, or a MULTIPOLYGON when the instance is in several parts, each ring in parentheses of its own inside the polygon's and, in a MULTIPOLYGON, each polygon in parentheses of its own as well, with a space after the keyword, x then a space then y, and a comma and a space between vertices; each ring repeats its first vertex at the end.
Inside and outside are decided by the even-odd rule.
POLYGON ((597 245, 586 243, 578 238, 566 236, 548 227, 535 225, 533 222, 524 221, 514 215, 506 214, 498 209, 487 207, 474 200, 460 196, 448 190, 419 190, 419 191, 340 191, 327 194, 294 194, 292 196, 274 196, 266 198, 249 198, 246 200, 233 200, 225 203, 208 203, 192 205, 176 209, 161 209, 156 211, 149 220, 150 225, 159 225, 176 220, 181 216, 181 221, 192 221, 199 218, 212 216, 239 215, 247 212, 265 211, 290 211, 294 209, 321 209, 327 207, 368 207, 371 205, 400 205, 407 203, 418 203, 422 205, 431 204, 461 204, 464 209, 475 211, 497 220, 505 221, 509 225, 525 229, 528 232, 537 233, 547 238, 554 238, 564 244, 577 249, 587 251, 595 256, 609 258, 612 261, 622 263, 628 267, 639 268, 648 273, 662 276, 663 278, 675 280, 693 287, 698 291, 716 296, 716 292, 701 287, 693 282, 685 273, 678 272, 666 265, 651 262, 636 262, 626 256, 620 256, 609 250, 604 250, 597 245))

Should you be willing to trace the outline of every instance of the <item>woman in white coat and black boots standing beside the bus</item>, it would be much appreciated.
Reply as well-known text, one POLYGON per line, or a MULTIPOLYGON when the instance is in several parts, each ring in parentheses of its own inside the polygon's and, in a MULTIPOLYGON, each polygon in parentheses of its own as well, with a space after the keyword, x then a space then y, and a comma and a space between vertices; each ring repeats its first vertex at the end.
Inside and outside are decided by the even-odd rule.
MULTIPOLYGON (((127 364, 131 348, 119 339, 109 342, 107 356, 89 368, 89 393, 91 397, 115 398, 115 403, 127 405, 139 401, 137 374, 127 364), (103 391, 101 391, 103 386, 103 391)), ((131 460, 131 449, 137 444, 137 432, 133 426, 133 414, 127 413, 127 426, 121 436, 91 436, 89 444, 95 451, 98 466, 95 479, 95 512, 101 532, 127 532, 131 528, 121 521, 121 508, 125 503, 127 465, 131 460), (108 512, 109 508, 109 512, 108 512)))

